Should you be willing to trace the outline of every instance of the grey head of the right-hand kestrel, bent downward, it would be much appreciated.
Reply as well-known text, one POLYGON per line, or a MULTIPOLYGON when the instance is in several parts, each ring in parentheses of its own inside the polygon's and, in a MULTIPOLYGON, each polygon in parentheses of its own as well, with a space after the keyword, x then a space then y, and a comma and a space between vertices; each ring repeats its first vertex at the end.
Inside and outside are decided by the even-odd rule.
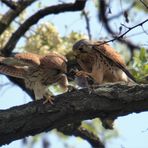
POLYGON ((89 40, 82 39, 76 42, 72 48, 75 55, 89 53, 92 50, 92 45, 89 40))

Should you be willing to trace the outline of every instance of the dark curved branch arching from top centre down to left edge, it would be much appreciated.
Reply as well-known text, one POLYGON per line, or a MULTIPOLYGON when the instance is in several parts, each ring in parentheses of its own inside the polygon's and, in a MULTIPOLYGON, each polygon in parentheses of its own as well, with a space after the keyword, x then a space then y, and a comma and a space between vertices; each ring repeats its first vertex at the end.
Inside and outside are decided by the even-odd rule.
POLYGON ((75 3, 59 4, 55 6, 46 7, 39 10, 37 13, 29 17, 10 37, 6 46, 1 49, 4 55, 10 55, 15 48, 18 40, 24 33, 41 18, 49 14, 58 14, 61 12, 82 10, 85 6, 86 0, 76 0, 75 3))

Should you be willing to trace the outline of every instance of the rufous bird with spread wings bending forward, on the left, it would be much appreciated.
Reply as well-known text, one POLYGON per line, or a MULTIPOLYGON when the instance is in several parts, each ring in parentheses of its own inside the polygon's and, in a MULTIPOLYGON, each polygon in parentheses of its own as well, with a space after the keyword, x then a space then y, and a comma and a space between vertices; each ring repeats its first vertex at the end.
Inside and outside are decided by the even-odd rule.
POLYGON ((49 85, 58 83, 65 91, 68 89, 66 61, 57 53, 45 56, 20 53, 15 57, 0 57, 0 73, 24 79, 26 87, 34 91, 36 100, 45 97, 44 103, 52 103, 49 85))

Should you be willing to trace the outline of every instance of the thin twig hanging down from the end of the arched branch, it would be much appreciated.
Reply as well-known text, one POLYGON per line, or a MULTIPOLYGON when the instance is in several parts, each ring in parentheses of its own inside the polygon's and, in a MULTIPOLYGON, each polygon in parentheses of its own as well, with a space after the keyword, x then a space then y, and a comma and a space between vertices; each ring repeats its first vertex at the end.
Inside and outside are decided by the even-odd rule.
POLYGON ((90 20, 89 20, 89 17, 88 17, 88 13, 85 10, 83 10, 82 14, 84 15, 84 18, 85 18, 85 21, 86 21, 86 30, 87 30, 87 33, 88 33, 89 40, 91 40, 92 37, 91 37, 90 20))

